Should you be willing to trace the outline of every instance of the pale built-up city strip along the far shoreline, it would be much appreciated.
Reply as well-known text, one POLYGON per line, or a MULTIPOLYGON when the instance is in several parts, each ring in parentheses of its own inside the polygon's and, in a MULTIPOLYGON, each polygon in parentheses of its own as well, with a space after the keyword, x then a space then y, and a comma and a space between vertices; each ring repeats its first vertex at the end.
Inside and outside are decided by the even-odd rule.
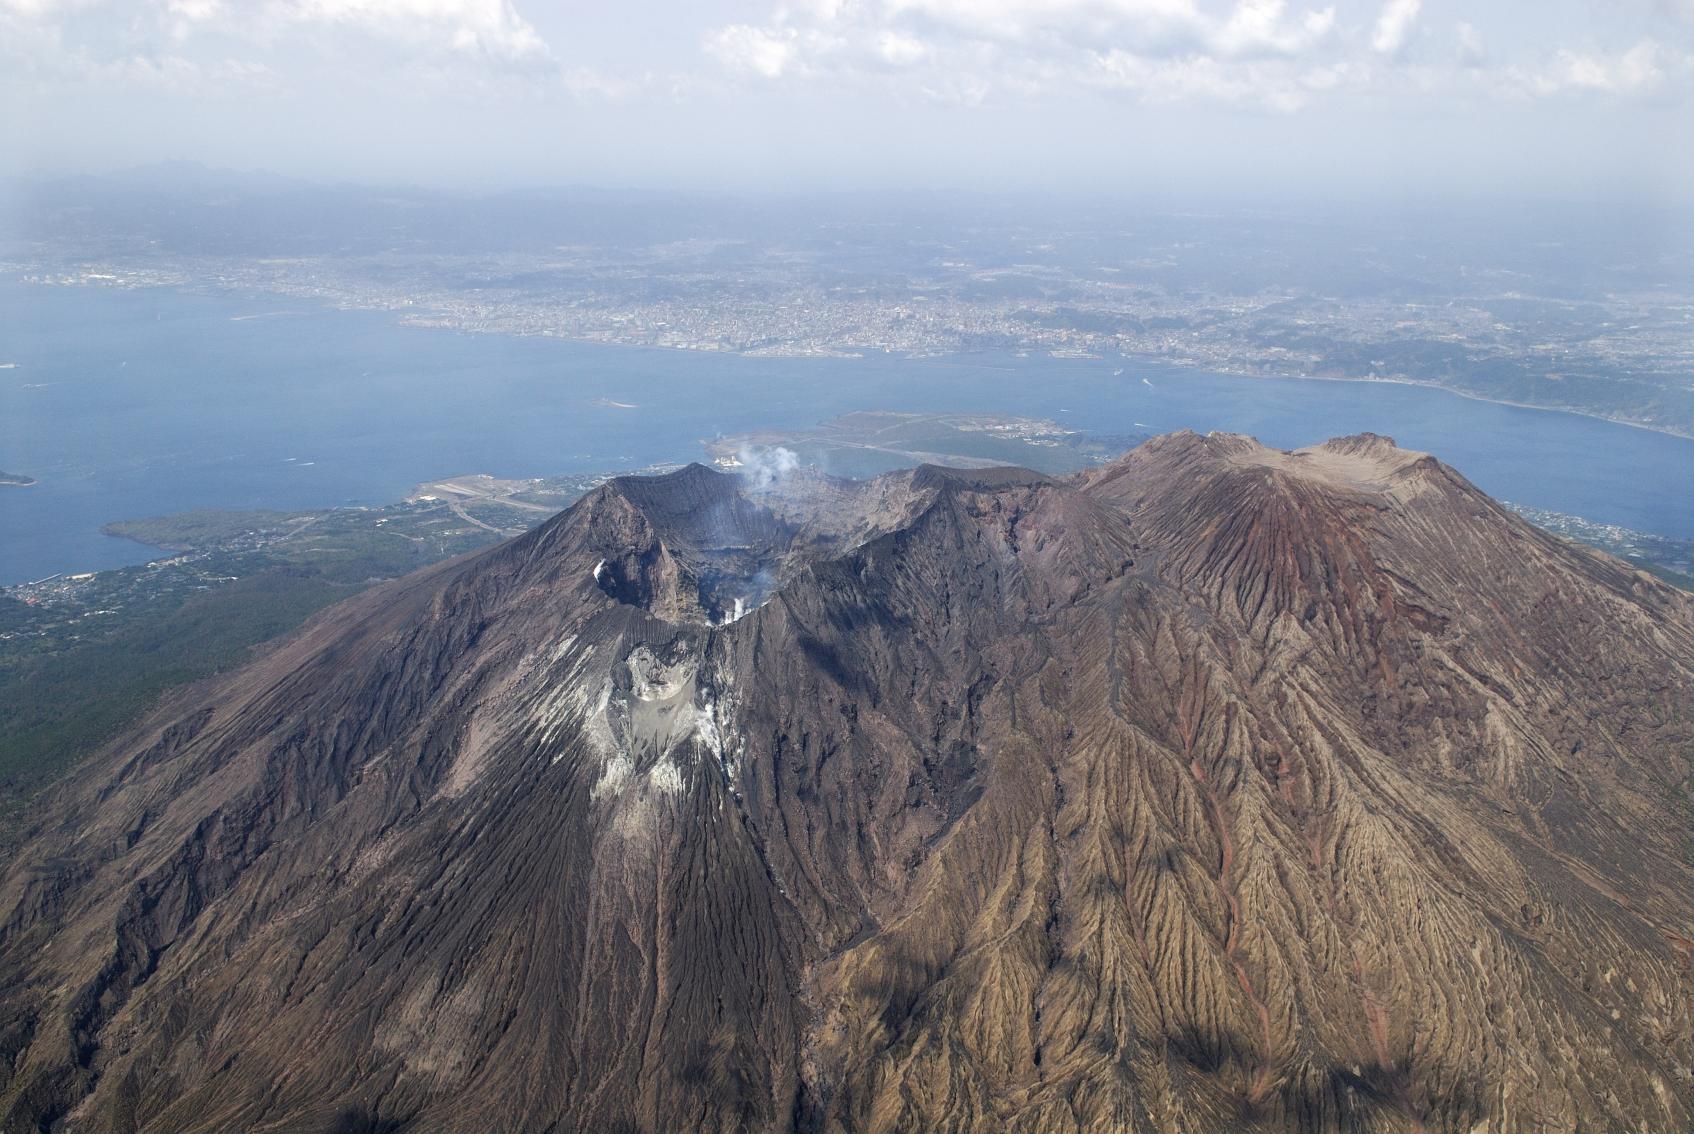
MULTIPOLYGON (((1169 293, 1040 264, 949 263, 888 286, 825 285, 769 271, 715 276, 622 261, 508 256, 193 259, 15 264, 46 285, 266 292, 398 312, 464 332, 552 336, 749 356, 852 358, 1042 351, 1059 358, 1157 358, 1218 373, 1404 381, 1491 400, 1565 409, 1694 436, 1694 297, 1569 302, 1504 288, 1469 302, 1333 298, 1291 290, 1169 293), (669 275, 666 275, 669 273, 669 275), (457 276, 452 283, 447 276, 457 276), (529 280, 518 285, 517 280, 529 280), (983 295, 1050 280, 1059 297, 983 295), (652 295, 654 283, 671 295, 652 295)), ((1504 283, 1504 281, 1503 281, 1504 283)))

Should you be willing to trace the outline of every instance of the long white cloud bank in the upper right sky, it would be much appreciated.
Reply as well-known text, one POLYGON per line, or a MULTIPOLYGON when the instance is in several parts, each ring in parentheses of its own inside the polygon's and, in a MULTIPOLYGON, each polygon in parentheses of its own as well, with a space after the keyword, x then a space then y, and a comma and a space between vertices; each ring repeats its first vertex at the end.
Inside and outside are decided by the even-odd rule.
MULTIPOLYGON (((1682 2, 1682 0, 1677 0, 1682 2)), ((1694 3, 1694 0, 1687 0, 1694 3)), ((1540 64, 1496 63, 1469 22, 1445 63, 1408 51, 1421 0, 788 0, 762 24, 706 36, 723 68, 759 81, 884 85, 981 105, 1069 90, 1143 103, 1293 114, 1362 90, 1425 98, 1628 97, 1660 86, 1670 53, 1548 46, 1540 64), (1350 8, 1342 3, 1352 2, 1350 8), (1342 10, 1350 10, 1347 22, 1342 10)))

